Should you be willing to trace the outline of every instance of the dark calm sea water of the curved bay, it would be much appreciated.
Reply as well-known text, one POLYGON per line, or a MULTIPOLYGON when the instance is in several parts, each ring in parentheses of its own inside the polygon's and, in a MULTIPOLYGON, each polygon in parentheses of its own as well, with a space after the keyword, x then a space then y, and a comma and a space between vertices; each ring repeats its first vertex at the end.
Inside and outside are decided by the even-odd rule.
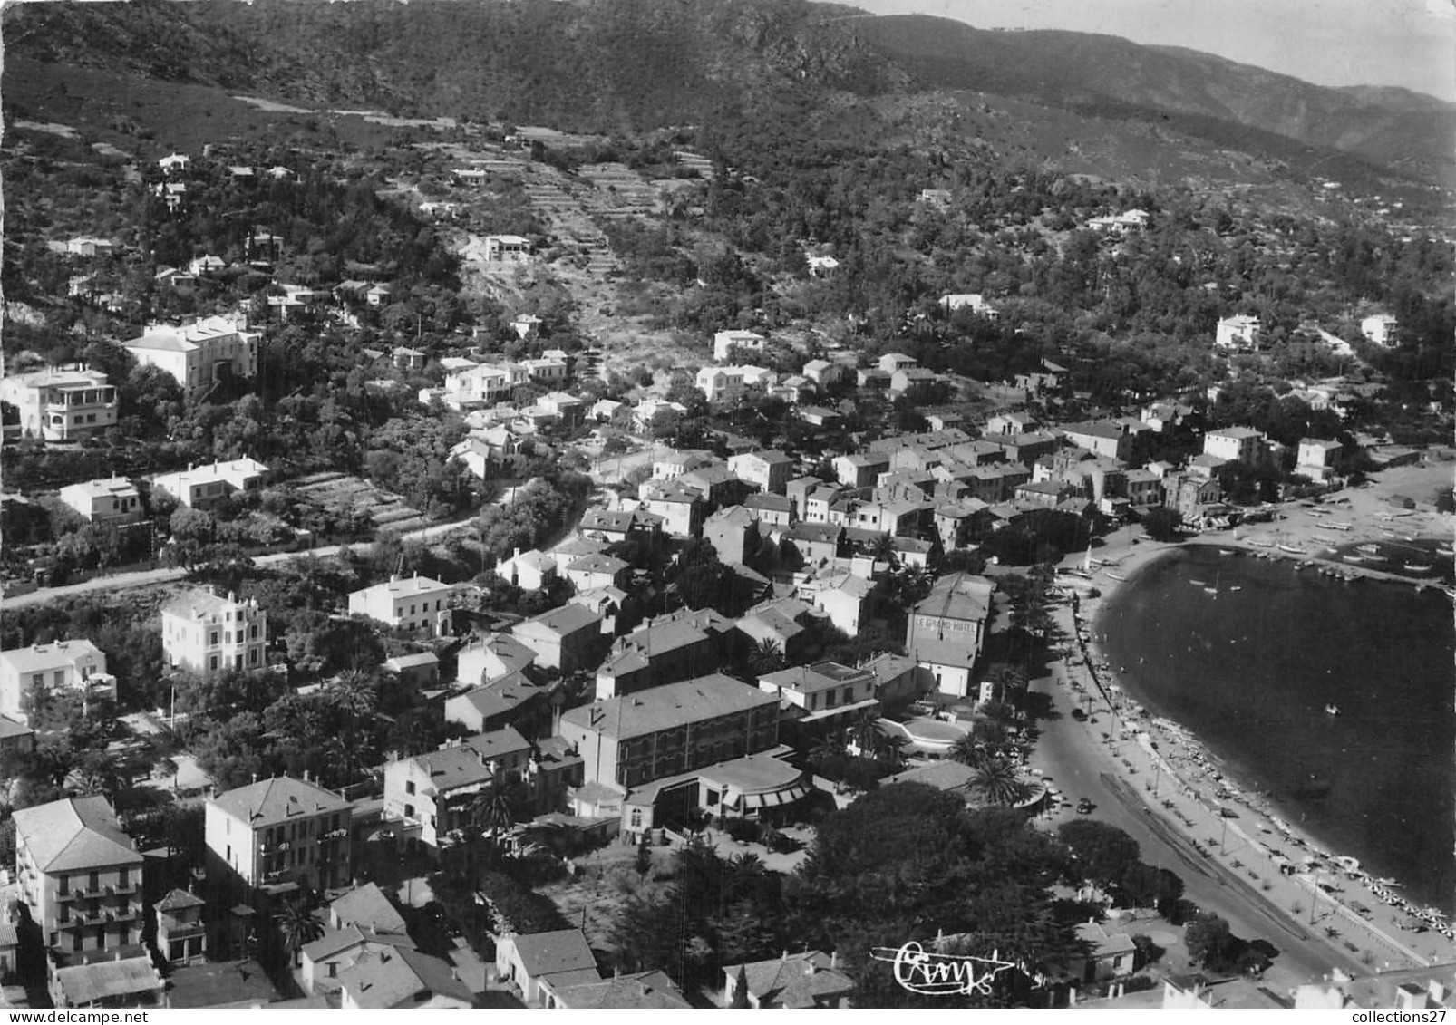
POLYGON ((1123 585, 1093 629, 1123 689, 1246 792, 1456 911, 1456 625, 1440 587, 1185 547, 1123 585))

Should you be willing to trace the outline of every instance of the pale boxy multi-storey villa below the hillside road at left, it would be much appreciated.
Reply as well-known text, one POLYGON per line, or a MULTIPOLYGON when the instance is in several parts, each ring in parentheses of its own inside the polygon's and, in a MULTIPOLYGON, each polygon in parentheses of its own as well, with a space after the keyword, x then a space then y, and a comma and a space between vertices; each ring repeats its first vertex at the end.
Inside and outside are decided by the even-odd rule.
POLYGON ((268 613, 258 598, 239 601, 211 591, 188 591, 162 607, 162 654, 167 665, 201 676, 220 670, 259 670, 266 664, 268 613))

